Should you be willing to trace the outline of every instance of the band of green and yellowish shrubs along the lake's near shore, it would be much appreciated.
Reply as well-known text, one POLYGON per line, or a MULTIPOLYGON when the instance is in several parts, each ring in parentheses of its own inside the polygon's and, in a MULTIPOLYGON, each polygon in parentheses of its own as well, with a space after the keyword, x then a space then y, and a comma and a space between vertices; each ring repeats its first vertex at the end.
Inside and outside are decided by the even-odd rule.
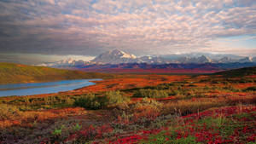
POLYGON ((20 111, 51 109, 57 107, 84 107, 90 110, 115 107, 130 101, 130 97, 119 91, 108 91, 87 95, 51 95, 51 96, 9 96, 0 99, 1 104, 19 106, 20 111))

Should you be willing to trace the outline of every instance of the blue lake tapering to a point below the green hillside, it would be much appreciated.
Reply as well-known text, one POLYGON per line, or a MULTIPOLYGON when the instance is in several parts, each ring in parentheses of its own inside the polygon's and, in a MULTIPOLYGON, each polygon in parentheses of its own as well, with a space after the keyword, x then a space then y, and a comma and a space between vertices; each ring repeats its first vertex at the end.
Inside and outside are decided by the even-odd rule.
POLYGON ((58 93, 61 91, 79 89, 85 86, 93 85, 95 83, 90 81, 96 80, 102 79, 75 79, 28 84, 0 84, 0 97, 11 95, 21 96, 58 93))

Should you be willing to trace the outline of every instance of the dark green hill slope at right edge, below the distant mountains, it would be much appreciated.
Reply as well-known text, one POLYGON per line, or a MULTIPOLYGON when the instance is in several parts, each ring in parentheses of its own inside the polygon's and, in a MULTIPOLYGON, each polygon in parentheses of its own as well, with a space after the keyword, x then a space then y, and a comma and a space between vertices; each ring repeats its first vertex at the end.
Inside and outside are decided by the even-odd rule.
POLYGON ((229 78, 256 75, 256 66, 239 68, 239 69, 234 69, 234 70, 224 71, 224 72, 216 72, 216 73, 213 73, 213 75, 222 75, 224 77, 229 77, 229 78))

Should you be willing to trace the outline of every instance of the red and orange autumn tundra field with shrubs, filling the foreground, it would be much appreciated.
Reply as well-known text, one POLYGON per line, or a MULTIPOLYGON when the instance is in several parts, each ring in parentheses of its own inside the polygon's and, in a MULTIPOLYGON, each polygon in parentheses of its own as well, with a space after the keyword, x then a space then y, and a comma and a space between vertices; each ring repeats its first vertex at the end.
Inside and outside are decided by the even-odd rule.
POLYGON ((95 83, 1 97, 0 143, 256 142, 256 67, 201 75, 116 74, 95 83))

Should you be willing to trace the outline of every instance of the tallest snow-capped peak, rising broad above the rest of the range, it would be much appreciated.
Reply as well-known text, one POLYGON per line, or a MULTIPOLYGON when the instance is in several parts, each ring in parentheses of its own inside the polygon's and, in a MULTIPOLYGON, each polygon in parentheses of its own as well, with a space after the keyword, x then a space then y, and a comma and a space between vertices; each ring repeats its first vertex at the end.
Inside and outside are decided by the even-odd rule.
POLYGON ((114 49, 97 56, 91 61, 102 64, 134 63, 137 62, 137 57, 135 55, 127 54, 119 49, 114 49))

